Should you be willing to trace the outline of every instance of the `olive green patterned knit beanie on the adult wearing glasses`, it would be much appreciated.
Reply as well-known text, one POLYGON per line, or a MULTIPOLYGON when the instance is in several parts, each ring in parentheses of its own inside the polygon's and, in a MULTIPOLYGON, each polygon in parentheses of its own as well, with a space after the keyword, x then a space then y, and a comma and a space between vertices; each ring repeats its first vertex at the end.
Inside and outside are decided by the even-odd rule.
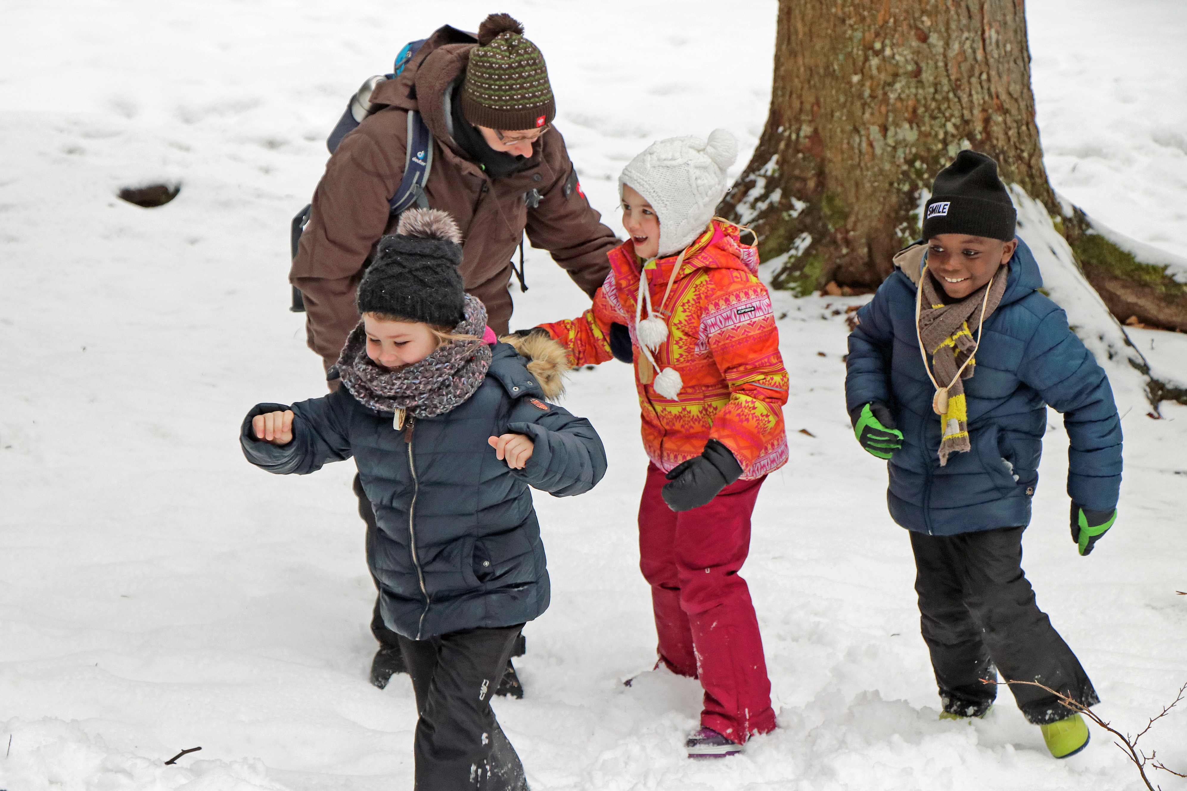
POLYGON ((548 69, 523 26, 507 14, 490 14, 478 26, 462 90, 462 113, 480 127, 537 129, 557 115, 548 69))

